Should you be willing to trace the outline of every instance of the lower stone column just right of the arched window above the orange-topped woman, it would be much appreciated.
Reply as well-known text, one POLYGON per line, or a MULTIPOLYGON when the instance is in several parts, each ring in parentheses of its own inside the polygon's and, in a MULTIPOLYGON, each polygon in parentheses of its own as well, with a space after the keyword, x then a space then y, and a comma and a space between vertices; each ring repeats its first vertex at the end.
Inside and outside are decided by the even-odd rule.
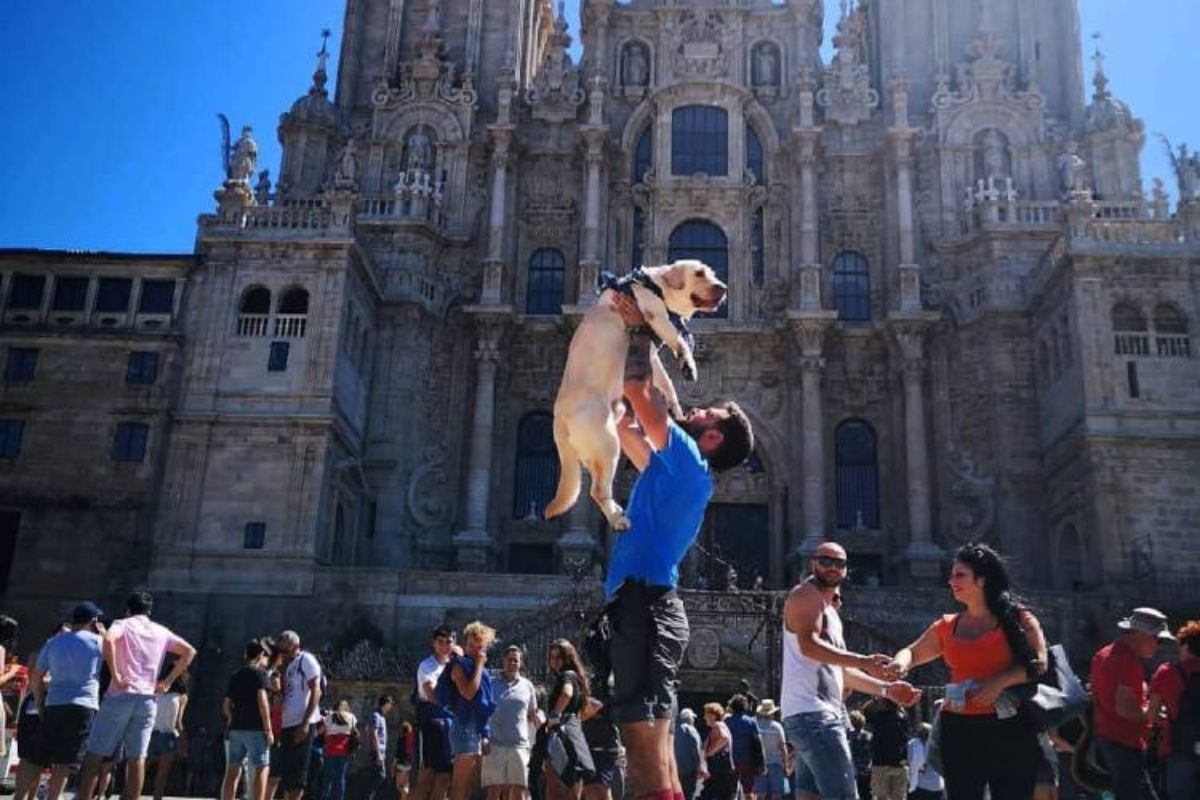
POLYGON ((924 337, 928 323, 896 323, 893 335, 900 350, 904 379, 905 465, 908 485, 908 569, 916 582, 941 576, 942 549, 934 543, 930 515, 929 439, 925 432, 924 337))

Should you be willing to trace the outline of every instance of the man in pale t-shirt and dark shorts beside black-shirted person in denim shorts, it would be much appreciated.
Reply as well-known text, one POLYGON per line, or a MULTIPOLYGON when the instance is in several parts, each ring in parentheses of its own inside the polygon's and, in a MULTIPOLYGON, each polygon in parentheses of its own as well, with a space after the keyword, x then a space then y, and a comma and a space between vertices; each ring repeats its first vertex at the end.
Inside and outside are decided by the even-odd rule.
POLYGON ((299 633, 283 631, 276 646, 283 654, 280 784, 288 800, 300 800, 308 783, 324 681, 320 662, 300 646, 299 633))

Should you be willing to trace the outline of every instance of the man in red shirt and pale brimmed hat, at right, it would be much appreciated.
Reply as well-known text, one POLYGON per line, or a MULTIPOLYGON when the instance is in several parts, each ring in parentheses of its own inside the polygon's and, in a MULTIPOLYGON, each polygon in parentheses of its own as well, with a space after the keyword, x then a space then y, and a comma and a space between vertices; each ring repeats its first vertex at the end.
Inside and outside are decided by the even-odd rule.
POLYGON ((1133 609, 1117 628, 1117 639, 1092 656, 1096 740, 1112 775, 1115 800, 1141 800, 1144 792, 1153 796, 1146 775, 1152 720, 1142 662, 1175 637, 1166 628, 1166 615, 1157 608, 1133 609))

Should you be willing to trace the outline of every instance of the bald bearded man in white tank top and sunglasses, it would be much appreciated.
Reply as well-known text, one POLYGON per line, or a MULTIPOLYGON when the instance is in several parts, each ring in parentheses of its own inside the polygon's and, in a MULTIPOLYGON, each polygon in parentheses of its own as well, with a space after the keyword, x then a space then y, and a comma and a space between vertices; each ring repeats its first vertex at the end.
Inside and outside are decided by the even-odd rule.
POLYGON ((846 579, 846 551, 824 542, 812 554, 811 575, 784 606, 784 730, 796 748, 799 800, 854 800, 858 786, 846 736, 845 688, 912 705, 920 692, 905 681, 888 681, 890 658, 846 649, 841 616, 834 604, 846 579))

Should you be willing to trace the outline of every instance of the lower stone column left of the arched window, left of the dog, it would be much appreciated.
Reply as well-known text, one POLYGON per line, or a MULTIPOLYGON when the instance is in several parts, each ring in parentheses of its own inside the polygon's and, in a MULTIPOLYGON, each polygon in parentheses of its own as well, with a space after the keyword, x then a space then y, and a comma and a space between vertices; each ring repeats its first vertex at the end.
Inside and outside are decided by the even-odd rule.
MULTIPOLYGON (((479 307, 476 306, 475 309, 479 307)), ((468 309, 472 311, 472 309, 468 309)), ((496 420, 496 365, 505 320, 500 315, 475 319, 475 408, 470 422, 470 456, 467 467, 467 527, 454 537, 458 569, 486 572, 494 560, 496 541, 487 530, 492 485, 492 439, 496 420)))

